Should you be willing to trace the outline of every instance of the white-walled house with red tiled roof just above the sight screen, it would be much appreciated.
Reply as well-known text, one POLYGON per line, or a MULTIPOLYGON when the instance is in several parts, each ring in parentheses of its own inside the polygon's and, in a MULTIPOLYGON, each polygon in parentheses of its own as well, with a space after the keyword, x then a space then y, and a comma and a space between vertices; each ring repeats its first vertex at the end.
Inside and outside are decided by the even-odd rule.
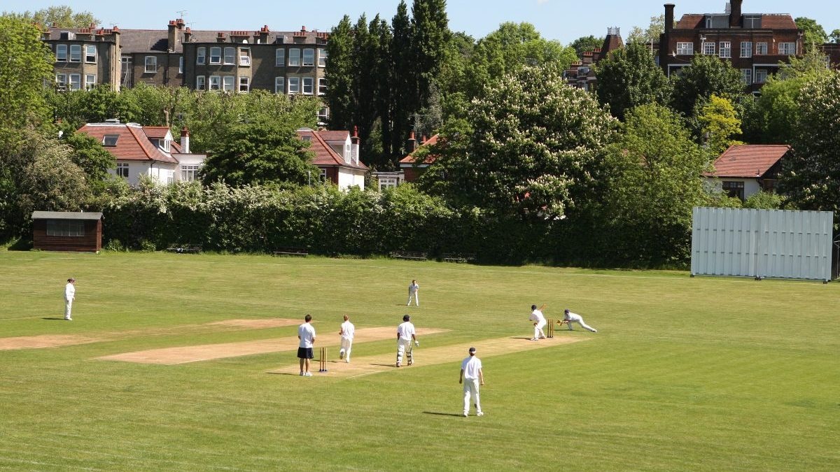
POLYGON ((774 191, 787 144, 736 144, 723 151, 707 173, 712 186, 743 202, 758 191, 774 191))

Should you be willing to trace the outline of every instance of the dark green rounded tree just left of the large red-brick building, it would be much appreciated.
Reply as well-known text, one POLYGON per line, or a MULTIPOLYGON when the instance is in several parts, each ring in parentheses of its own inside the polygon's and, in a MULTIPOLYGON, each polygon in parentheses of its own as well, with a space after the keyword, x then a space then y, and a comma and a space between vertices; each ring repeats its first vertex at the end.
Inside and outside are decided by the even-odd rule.
POLYGON ((644 103, 668 104, 671 84, 654 55, 641 43, 613 50, 595 67, 598 101, 609 106, 612 116, 623 120, 629 108, 644 103))

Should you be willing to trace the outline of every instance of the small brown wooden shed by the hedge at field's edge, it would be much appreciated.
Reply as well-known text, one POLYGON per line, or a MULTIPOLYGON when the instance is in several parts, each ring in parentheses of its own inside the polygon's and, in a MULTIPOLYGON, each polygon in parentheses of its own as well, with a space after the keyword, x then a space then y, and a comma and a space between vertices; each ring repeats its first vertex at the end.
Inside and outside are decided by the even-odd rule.
POLYGON ((99 252, 101 212, 32 212, 34 249, 99 252))

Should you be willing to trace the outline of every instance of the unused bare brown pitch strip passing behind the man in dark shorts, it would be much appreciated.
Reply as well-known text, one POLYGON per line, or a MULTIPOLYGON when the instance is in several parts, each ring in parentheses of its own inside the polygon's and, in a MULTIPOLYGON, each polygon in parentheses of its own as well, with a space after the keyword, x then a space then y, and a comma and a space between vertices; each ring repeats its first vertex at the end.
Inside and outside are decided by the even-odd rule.
MULTIPOLYGON (((442 333, 444 329, 418 328, 417 334, 428 335, 442 333)), ((354 343, 365 343, 369 341, 381 341, 383 339, 396 338, 395 328, 361 328, 357 329, 354 336, 354 343)), ((340 339, 338 335, 318 336, 315 343, 315 350, 322 347, 338 346, 340 339)), ((297 336, 286 338, 260 339, 257 341, 244 341, 240 343, 203 344, 197 346, 181 346, 177 348, 150 349, 133 353, 113 354, 97 359, 121 360, 124 362, 138 362, 141 364, 186 364, 202 360, 225 359, 228 357, 239 357, 251 354, 268 354, 281 351, 297 351, 297 336)))

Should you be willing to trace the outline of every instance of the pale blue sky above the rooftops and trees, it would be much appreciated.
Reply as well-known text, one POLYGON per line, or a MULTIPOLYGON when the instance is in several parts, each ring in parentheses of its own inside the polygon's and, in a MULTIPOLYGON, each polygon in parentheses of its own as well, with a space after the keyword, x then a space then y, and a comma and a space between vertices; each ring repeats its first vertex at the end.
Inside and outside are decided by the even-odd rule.
MULTIPOLYGON (((406 0, 409 14, 412 0, 406 0)), ((463 31, 480 39, 505 22, 530 23, 545 39, 568 45, 581 36, 601 37, 608 27, 617 26, 627 38, 633 26, 646 28, 650 18, 664 13, 664 3, 674 3, 675 18, 685 13, 723 13, 725 0, 449 0, 449 29, 463 31)), ((0 0, 0 10, 22 12, 70 5, 74 11, 88 11, 106 28, 113 24, 122 29, 165 29, 169 20, 185 19, 192 29, 256 30, 267 24, 272 31, 307 29, 329 31, 346 14, 352 23, 362 13, 368 20, 377 13, 391 23, 399 0, 275 0, 247 2, 243 8, 216 0, 129 0, 56 2, 0 0), (8 3, 7 3, 8 2, 8 3), (257 5, 260 5, 257 7, 257 5)), ((793 18, 816 19, 831 33, 840 29, 840 2, 837 0, 745 0, 743 13, 790 13, 793 18)))

